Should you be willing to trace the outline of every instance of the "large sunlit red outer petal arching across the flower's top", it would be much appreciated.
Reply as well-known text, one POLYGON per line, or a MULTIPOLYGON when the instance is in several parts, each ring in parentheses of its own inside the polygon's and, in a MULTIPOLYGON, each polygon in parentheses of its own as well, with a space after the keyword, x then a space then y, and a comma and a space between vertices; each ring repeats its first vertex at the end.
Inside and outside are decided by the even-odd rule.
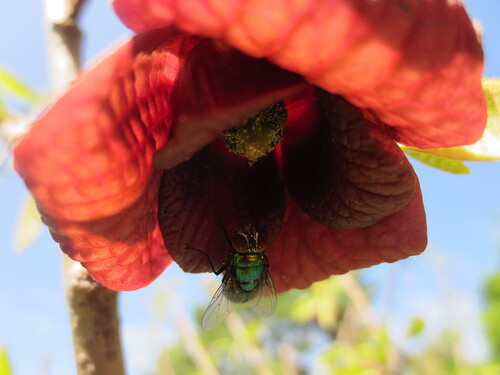
POLYGON ((136 31, 175 25, 222 38, 372 110, 396 140, 447 147, 486 122, 482 49, 458 1, 114 0, 136 31))

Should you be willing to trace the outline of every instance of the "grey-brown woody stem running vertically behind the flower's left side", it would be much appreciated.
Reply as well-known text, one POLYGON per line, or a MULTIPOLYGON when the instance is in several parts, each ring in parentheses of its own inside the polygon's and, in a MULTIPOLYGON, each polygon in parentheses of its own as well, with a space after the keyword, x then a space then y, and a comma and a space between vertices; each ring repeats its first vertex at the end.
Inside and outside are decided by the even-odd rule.
MULTIPOLYGON (((51 85, 65 89, 81 64, 78 16, 85 0, 45 0, 51 85)), ((118 293, 95 282, 77 262, 64 259, 64 283, 77 373, 125 374, 118 293)))

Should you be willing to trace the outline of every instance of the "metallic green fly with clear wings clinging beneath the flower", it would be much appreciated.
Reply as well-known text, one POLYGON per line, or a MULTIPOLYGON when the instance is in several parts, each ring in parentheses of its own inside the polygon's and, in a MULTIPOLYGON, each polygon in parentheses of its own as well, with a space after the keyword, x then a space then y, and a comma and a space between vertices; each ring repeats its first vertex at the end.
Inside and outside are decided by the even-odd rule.
POLYGON ((276 309, 276 292, 269 274, 265 244, 255 227, 245 225, 232 242, 224 231, 224 238, 230 253, 218 270, 208 254, 189 248, 205 254, 216 275, 224 272, 222 284, 203 314, 201 326, 204 329, 215 327, 241 303, 248 302, 252 310, 261 316, 269 316, 276 309))

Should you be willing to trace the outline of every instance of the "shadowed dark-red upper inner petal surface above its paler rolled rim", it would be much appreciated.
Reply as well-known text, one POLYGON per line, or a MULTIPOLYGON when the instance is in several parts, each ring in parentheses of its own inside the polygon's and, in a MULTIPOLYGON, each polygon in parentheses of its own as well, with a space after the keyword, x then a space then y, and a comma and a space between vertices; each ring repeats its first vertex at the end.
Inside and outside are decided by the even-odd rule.
MULTIPOLYGON (((305 82, 300 75, 266 59, 255 59, 222 41, 205 39, 190 51, 181 66, 172 91, 172 114, 176 121, 205 117, 302 84, 305 82)), ((251 108, 237 122, 255 112, 251 108)))

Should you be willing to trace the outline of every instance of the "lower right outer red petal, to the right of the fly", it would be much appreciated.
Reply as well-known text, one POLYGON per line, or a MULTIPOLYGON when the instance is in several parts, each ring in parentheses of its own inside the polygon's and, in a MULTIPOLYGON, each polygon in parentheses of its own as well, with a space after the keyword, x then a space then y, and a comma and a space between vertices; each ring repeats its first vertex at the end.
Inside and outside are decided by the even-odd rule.
POLYGON ((395 262, 420 254, 427 245, 419 186, 403 210, 362 229, 328 228, 303 213, 290 196, 286 208, 280 235, 266 252, 277 292, 304 289, 333 274, 395 262))

